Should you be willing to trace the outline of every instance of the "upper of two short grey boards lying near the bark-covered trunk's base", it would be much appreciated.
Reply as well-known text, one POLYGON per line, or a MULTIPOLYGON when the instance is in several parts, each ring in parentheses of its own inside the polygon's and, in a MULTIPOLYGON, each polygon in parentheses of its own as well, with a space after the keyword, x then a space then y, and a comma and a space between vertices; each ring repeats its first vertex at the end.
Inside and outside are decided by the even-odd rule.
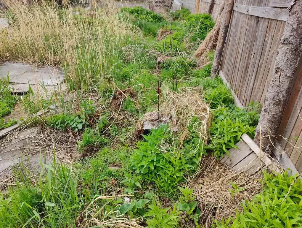
POLYGON ((249 156, 251 153, 254 153, 252 149, 249 147, 248 144, 246 144, 244 141, 239 141, 236 146, 239 149, 230 149, 230 157, 225 154, 223 159, 221 160, 222 163, 230 166, 233 168, 235 165, 237 165, 239 162, 241 162, 243 159, 245 159, 247 156, 249 156))

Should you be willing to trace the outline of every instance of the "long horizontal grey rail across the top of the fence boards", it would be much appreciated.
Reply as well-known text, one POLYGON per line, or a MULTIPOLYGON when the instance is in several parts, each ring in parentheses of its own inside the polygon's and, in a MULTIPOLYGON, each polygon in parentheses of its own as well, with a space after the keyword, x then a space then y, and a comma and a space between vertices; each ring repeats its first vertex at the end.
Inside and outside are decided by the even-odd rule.
POLYGON ((276 19, 280 21, 286 21, 288 18, 288 10, 284 8, 250 6, 234 3, 233 10, 247 15, 276 19))

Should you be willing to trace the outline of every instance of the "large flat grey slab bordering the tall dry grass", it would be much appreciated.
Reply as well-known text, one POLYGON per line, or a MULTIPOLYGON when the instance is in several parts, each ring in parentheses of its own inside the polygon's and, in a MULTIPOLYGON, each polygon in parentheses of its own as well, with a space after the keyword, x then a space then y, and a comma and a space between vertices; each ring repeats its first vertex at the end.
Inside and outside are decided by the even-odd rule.
POLYGON ((4 62, 0 66, 0 78, 9 76, 10 83, 17 84, 15 89, 31 85, 56 86, 64 81, 63 72, 51 66, 34 67, 20 62, 4 62), (22 87, 20 84, 23 84, 22 87))

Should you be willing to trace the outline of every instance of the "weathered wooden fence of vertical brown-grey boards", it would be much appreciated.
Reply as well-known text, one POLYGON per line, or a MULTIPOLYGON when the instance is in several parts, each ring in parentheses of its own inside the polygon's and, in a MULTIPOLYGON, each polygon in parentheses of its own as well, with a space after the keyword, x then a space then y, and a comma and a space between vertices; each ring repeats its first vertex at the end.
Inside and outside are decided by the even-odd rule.
MULTIPOLYGON (((216 20, 220 3, 210 12, 216 20)), ((220 74, 226 78, 239 101, 263 104, 271 80, 277 50, 292 0, 235 0, 230 28, 224 46, 220 74)), ((197 0, 198 13, 209 13, 211 0, 197 0), (198 2, 199 1, 199 2, 198 2)), ((222 12, 222 21, 225 12, 222 12)), ((279 127, 281 147, 302 172, 302 58, 293 89, 279 127)))

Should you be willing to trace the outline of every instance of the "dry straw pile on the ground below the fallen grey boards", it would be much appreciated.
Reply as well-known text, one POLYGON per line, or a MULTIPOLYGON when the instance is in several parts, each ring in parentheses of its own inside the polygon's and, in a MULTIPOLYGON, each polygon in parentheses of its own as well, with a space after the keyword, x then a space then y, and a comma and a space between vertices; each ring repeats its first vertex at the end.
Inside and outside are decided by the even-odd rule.
POLYGON ((262 189, 258 178, 259 175, 235 173, 212 156, 203 157, 198 173, 188 181, 201 209, 201 225, 210 228, 214 220, 234 216, 235 209, 241 210, 242 200, 252 200, 262 189), (234 193, 231 182, 244 189, 234 193))

